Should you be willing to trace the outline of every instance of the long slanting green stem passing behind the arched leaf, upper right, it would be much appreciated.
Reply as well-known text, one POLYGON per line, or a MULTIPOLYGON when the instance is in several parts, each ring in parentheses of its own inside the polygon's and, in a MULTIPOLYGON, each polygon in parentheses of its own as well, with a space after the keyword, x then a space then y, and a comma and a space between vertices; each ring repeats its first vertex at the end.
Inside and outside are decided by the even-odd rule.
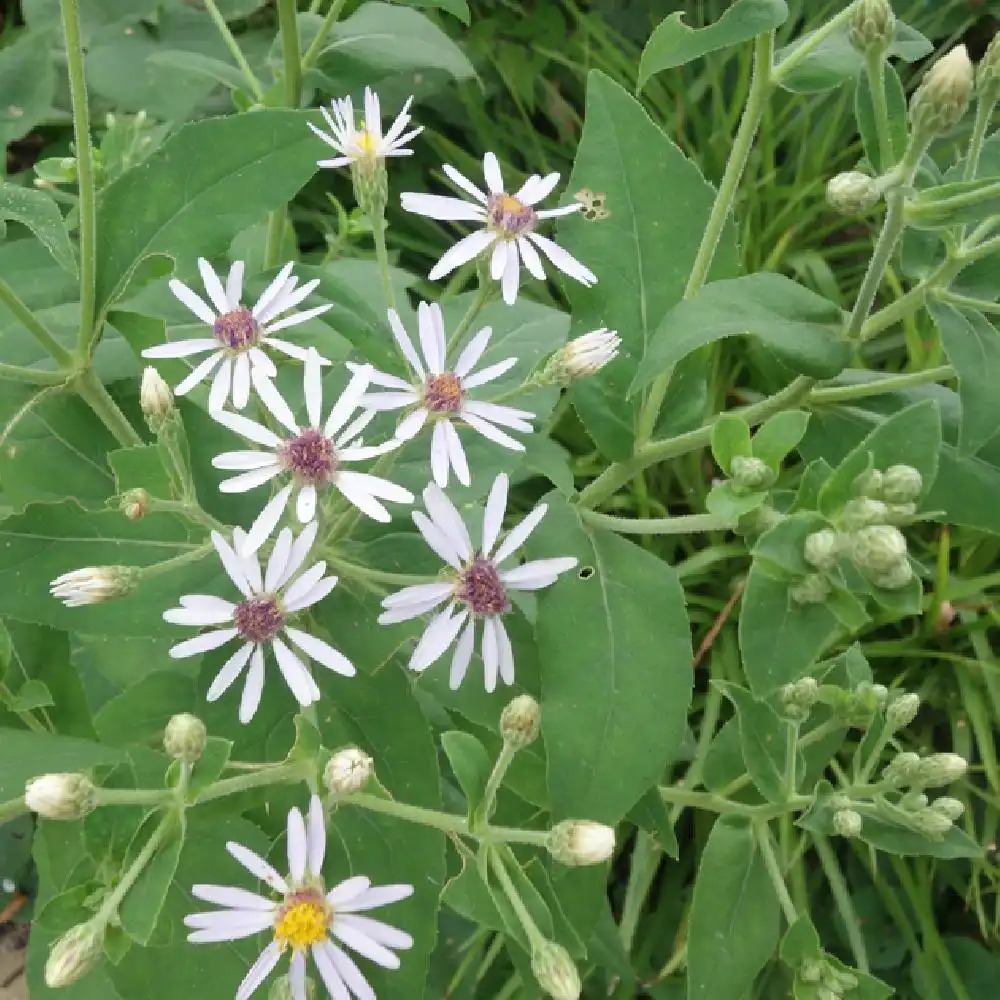
MULTIPOLYGON (((771 62, 774 56, 774 33, 766 32, 754 39, 753 76, 750 81, 750 91, 747 94, 746 107, 740 119, 739 128, 733 139, 726 169, 719 182, 719 190, 715 195, 712 211, 705 224, 698 253, 691 265, 684 298, 690 299, 701 291, 708 278, 708 272, 715 259, 715 252, 722 238, 722 230, 726 220, 733 210, 733 202, 739 189, 743 171, 746 169, 753 140, 757 135, 760 120, 767 106, 767 98, 771 92, 771 62)), ((636 432, 636 443, 641 448, 656 430, 656 421, 660 408, 670 386, 671 372, 668 370, 659 375, 650 386, 649 395, 639 413, 639 426, 636 432)))

